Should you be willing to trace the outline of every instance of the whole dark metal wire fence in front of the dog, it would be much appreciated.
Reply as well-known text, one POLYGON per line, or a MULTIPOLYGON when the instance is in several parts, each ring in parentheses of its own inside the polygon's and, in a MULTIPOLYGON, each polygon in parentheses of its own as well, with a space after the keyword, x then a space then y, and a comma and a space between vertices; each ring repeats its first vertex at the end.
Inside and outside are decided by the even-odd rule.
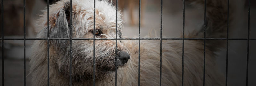
MULTIPOLYGON (((204 72, 203 72, 203 86, 205 85, 205 41, 206 40, 226 40, 227 41, 227 45, 226 45, 226 86, 227 86, 227 80, 228 80, 228 40, 247 40, 247 66, 246 66, 246 86, 248 86, 248 61, 249 61, 249 41, 250 40, 256 40, 256 39, 251 39, 249 37, 250 35, 250 1, 248 2, 248 37, 247 38, 229 38, 228 37, 228 30, 229 30, 229 22, 227 23, 227 38, 206 38, 206 0, 204 3, 204 38, 184 38, 184 27, 185 27, 185 0, 183 0, 183 32, 182 32, 182 38, 163 38, 162 37, 162 17, 163 17, 163 0, 161 0, 161 26, 160 26, 160 38, 140 38, 140 8, 141 8, 141 1, 139 0, 139 38, 117 38, 117 5, 118 5, 118 0, 116 0, 116 38, 95 38, 95 17, 93 18, 94 20, 94 26, 93 26, 93 38, 72 38, 72 23, 70 23, 70 38, 49 38, 49 0, 47 0, 47 38, 26 38, 26 26, 25 26, 25 7, 26 7, 26 0, 23 0, 24 6, 24 38, 4 38, 4 28, 3 28, 3 20, 4 20, 4 16, 3 16, 3 1, 1 3, 1 21, 2 21, 2 86, 4 86, 4 40, 24 40, 24 86, 26 85, 26 59, 25 59, 25 51, 26 51, 26 40, 47 40, 48 43, 48 52, 47 52, 47 84, 49 86, 49 40, 70 40, 70 83, 69 85, 72 86, 72 76, 71 76, 71 69, 72 69, 72 40, 93 40, 93 86, 95 86, 95 40, 116 40, 116 50, 117 50, 117 40, 139 40, 139 67, 138 67, 138 85, 140 86, 140 40, 160 40, 160 81, 159 84, 161 86, 161 77, 162 77, 162 40, 182 40, 182 86, 183 86, 183 80, 184 80, 184 40, 204 40, 204 72)), ((228 18, 227 21, 229 20, 229 0, 228 1, 228 18)), ((94 0, 94 16, 95 16, 95 0, 94 0)), ((72 0, 70 0, 70 22, 72 22, 72 0)), ((117 53, 117 51, 115 51, 115 53, 117 53)), ((115 59, 115 61, 117 62, 117 58, 115 59)), ((117 86, 117 64, 116 64, 116 70, 115 70, 115 85, 117 86)))

